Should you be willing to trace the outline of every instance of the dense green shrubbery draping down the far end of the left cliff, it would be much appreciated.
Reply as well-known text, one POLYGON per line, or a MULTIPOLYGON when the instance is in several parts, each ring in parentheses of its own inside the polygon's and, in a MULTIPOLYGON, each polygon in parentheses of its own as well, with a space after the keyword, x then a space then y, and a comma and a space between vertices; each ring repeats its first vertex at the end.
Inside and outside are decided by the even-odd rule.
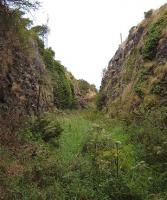
POLYGON ((65 67, 54 59, 51 48, 45 49, 41 39, 37 39, 39 51, 52 79, 54 104, 59 109, 72 108, 75 104, 74 85, 67 76, 65 67))

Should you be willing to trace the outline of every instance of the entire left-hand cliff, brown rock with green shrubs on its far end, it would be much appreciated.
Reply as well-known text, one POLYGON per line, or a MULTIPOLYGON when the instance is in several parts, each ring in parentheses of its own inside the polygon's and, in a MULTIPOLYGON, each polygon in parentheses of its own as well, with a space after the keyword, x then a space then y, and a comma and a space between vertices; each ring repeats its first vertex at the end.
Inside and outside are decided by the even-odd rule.
POLYGON ((43 27, 31 28, 22 15, 0 4, 0 123, 7 127, 54 107, 83 107, 89 93, 82 94, 79 82, 45 48, 43 27))

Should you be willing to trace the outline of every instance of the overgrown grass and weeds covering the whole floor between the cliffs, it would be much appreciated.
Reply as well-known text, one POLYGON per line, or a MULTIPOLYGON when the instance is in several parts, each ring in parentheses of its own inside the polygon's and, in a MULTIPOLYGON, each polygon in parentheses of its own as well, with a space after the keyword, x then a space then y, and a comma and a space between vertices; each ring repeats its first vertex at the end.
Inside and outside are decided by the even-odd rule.
POLYGON ((20 132, 21 151, 0 150, 4 199, 165 200, 166 143, 160 147, 156 127, 147 121, 127 125, 92 110, 43 118, 40 126, 32 120, 30 132, 59 124, 57 145, 32 138, 27 125, 20 132))

